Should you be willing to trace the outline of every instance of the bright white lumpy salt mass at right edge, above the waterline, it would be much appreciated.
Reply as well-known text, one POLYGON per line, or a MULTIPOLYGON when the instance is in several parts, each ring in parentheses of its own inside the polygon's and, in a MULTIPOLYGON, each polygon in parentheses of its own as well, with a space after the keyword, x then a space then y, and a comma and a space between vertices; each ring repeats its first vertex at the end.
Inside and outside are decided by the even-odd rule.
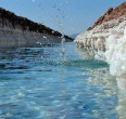
POLYGON ((126 29, 124 35, 111 34, 106 40, 106 62, 110 64, 110 74, 126 79, 126 29))

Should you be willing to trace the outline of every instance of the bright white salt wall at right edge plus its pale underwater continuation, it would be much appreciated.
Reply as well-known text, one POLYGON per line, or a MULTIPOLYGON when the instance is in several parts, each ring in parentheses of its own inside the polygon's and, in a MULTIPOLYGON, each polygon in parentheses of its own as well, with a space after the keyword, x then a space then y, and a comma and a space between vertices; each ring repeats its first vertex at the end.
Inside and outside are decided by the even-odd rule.
MULTIPOLYGON (((117 30, 119 31, 119 30, 117 30)), ((110 64, 110 74, 116 76, 118 93, 117 111, 121 119, 126 119, 126 29, 124 35, 111 34, 106 40, 105 57, 110 64)))

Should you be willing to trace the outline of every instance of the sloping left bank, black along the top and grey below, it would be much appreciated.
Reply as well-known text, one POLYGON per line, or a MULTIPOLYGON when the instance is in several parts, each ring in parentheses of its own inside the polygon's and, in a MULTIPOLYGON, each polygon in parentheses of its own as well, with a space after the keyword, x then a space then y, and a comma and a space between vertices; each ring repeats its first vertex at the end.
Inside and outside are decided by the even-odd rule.
MULTIPOLYGON (((67 36, 64 38, 73 41, 67 36)), ((0 48, 35 47, 59 43, 61 40, 59 31, 0 8, 0 48)))

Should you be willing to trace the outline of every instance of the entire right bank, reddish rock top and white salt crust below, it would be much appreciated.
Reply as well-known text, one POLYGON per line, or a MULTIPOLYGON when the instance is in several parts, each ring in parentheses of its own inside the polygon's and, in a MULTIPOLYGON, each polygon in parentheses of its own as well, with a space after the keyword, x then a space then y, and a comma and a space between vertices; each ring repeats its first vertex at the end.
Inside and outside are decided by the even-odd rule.
POLYGON ((111 75, 126 79, 126 2, 110 9, 75 42, 90 56, 108 62, 111 75))

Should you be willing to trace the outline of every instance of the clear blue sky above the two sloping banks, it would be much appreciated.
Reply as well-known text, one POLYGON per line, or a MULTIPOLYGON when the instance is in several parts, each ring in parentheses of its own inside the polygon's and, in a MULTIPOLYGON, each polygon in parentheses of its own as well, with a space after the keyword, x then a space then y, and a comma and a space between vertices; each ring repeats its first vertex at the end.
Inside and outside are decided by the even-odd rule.
POLYGON ((0 0, 0 6, 65 35, 84 32, 125 0, 0 0))

